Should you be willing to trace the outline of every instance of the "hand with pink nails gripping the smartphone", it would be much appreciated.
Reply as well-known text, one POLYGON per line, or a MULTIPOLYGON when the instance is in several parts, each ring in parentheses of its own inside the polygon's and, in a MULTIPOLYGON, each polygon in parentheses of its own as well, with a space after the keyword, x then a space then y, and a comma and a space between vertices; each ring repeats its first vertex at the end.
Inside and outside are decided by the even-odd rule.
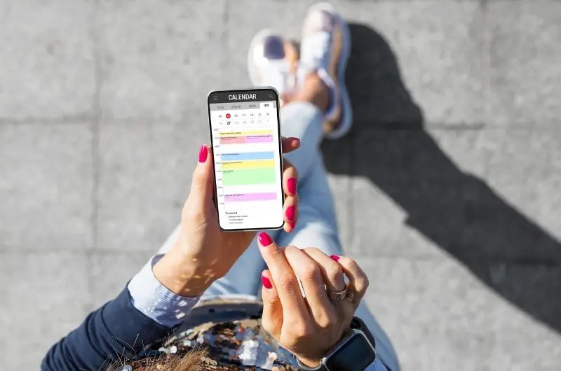
MULTIPOLYGON (((300 146, 297 138, 282 139, 283 153, 300 146)), ((291 232, 297 221, 296 169, 283 160, 284 230, 291 232)), ((253 231, 224 232, 218 225, 213 200, 212 150, 201 146, 191 191, 185 202, 180 237, 173 248, 152 268, 154 276, 174 293, 201 295, 216 279, 224 276, 255 237, 253 231)))

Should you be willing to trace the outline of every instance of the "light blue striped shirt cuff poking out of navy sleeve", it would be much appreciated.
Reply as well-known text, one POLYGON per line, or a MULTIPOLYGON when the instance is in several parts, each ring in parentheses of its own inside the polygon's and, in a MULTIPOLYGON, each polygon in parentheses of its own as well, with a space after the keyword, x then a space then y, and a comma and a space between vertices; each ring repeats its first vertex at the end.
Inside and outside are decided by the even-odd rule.
POLYGON ((185 321, 185 316, 198 302, 199 297, 176 295, 156 279, 152 267, 162 257, 163 255, 156 255, 151 258, 130 280, 128 291, 133 306, 138 311, 153 321, 172 328, 185 321))

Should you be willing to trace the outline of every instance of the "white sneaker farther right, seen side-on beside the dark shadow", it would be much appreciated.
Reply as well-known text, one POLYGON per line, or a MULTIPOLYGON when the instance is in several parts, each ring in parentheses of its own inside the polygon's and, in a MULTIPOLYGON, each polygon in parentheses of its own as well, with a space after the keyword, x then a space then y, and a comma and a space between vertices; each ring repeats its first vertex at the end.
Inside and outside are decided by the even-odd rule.
POLYGON ((349 132, 353 121, 351 100, 345 86, 346 62, 351 54, 349 27, 329 3, 311 6, 304 20, 300 45, 300 81, 311 71, 330 88, 325 111, 325 137, 337 139, 349 132))

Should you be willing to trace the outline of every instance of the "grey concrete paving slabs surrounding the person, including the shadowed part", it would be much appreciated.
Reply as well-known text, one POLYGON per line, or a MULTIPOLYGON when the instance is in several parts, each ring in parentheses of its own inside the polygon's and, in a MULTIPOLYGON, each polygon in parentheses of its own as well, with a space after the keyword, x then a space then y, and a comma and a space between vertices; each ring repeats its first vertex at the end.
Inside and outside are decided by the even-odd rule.
MULTIPOLYGON (((0 358, 48 346, 175 227, 206 93, 309 0, 0 0, 0 358)), ((355 125, 323 144, 404 370, 561 364, 561 3, 339 0, 355 125)))

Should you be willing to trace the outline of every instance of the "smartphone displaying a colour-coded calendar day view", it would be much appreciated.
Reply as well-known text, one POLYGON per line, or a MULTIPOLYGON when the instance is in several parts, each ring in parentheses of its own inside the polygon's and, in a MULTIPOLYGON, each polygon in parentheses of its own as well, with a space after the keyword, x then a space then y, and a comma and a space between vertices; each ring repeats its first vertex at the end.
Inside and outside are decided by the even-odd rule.
POLYGON ((218 223, 225 231, 283 228, 283 155, 273 87, 208 94, 218 223))

